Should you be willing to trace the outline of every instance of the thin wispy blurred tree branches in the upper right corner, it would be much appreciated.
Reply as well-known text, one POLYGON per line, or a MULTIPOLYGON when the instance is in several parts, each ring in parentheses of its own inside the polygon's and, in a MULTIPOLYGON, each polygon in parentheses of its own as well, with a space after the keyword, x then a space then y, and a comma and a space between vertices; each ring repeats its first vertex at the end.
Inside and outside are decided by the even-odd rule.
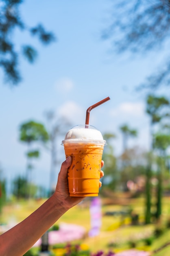
MULTIPOLYGON (((109 40, 118 53, 130 50, 147 53, 163 49, 170 40, 169 0, 117 0, 113 1, 111 22, 102 31, 102 39, 109 40)), ((170 54, 167 48, 166 56, 170 54)), ((159 71, 151 74, 142 85, 158 88, 169 85, 170 60, 161 64, 159 71)))

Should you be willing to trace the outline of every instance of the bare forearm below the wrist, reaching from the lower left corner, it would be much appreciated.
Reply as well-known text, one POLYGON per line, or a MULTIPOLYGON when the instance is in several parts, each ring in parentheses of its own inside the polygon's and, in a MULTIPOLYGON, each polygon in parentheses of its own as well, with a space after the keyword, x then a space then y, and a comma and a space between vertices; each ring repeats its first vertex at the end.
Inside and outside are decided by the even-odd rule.
POLYGON ((0 236, 0 255, 22 256, 67 210, 52 195, 28 218, 0 236))

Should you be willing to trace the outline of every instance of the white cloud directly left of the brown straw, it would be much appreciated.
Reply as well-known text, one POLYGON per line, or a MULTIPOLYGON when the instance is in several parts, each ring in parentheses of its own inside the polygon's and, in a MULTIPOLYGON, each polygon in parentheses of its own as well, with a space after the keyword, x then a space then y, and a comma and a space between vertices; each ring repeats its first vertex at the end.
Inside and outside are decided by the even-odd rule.
POLYGON ((84 124, 85 113, 84 110, 74 101, 67 101, 57 109, 60 116, 70 120, 72 124, 84 124))

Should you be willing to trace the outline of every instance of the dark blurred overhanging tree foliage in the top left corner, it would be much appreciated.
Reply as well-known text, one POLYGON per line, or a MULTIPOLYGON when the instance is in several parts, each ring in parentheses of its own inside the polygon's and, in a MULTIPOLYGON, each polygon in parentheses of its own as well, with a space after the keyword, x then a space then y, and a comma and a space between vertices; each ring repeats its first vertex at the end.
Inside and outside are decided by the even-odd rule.
POLYGON ((32 45, 21 45, 17 52, 12 40, 15 29, 27 31, 31 36, 37 36, 44 45, 55 40, 52 32, 44 29, 42 24, 29 27, 20 16, 19 7, 23 0, 2 0, 0 3, 0 67, 4 71, 5 82, 17 85, 21 81, 18 68, 20 57, 24 56, 29 63, 37 57, 37 50, 32 45))

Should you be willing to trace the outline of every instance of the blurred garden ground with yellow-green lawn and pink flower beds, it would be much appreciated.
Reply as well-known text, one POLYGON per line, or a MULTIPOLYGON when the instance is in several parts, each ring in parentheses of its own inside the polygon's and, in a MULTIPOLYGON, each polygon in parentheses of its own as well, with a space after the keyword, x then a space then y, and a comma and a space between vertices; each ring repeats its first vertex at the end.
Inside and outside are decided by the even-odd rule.
MULTIPOLYGON (((3 222, 15 219, 20 222, 31 211, 37 209, 39 202, 17 202, 4 207, 3 222)), ((52 256, 168 256, 170 237, 170 202, 163 198, 163 214, 159 223, 144 225, 144 198, 134 198, 127 204, 106 203, 102 199, 98 233, 92 231, 91 201, 70 209, 48 230, 49 251, 52 256), (131 214, 129 209, 133 208, 131 214), (138 218, 134 218, 135 213, 138 218), (93 235, 92 235, 93 234, 93 235), (161 248, 162 247, 162 248, 161 248)), ((95 217, 96 218, 96 217, 95 217)), ((13 225, 16 224, 13 222, 13 225)), ((94 225, 94 226, 95 226, 94 225)), ((94 227, 93 227, 94 228, 94 227)), ((4 226, 2 227, 2 232, 4 226)), ((25 254, 38 256, 41 239, 25 254)))

